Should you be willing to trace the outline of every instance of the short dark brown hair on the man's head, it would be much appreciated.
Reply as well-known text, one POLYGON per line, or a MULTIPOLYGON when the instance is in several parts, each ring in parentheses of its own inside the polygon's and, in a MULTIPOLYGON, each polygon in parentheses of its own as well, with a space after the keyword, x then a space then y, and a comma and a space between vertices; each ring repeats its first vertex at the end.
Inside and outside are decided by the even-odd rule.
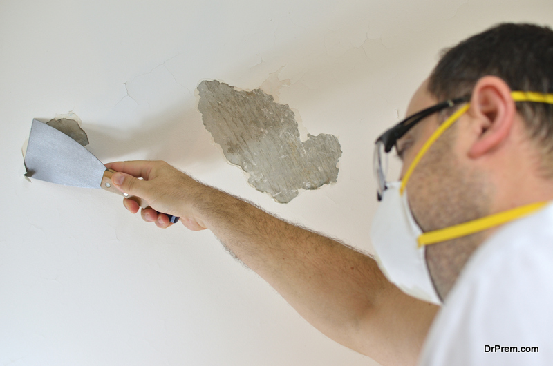
MULTIPOLYGON (((553 30, 503 23, 465 39, 444 50, 428 90, 438 100, 470 95, 486 75, 500 77, 511 90, 553 93, 553 30)), ((553 104, 517 102, 516 108, 553 175, 553 104)))

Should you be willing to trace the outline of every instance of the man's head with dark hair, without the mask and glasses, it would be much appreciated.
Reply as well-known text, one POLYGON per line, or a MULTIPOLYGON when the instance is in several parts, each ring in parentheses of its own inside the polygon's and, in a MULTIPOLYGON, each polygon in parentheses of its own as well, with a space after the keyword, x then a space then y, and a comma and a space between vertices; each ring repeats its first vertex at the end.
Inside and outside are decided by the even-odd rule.
MULTIPOLYGON (((553 31, 503 24, 447 50, 417 90, 407 114, 469 96, 470 108, 424 155, 407 184, 424 231, 553 198, 553 105, 514 102, 512 90, 553 93, 553 31)), ((431 115, 397 148, 404 171, 456 108, 431 115)), ((442 298, 490 230, 427 247, 442 298)))

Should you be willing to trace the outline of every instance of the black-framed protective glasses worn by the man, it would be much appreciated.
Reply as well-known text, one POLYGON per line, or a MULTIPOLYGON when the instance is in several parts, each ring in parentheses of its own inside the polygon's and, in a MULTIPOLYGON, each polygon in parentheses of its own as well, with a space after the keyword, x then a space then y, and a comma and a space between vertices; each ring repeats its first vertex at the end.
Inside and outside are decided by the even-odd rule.
POLYGON ((414 115, 407 117, 402 122, 389 128, 386 132, 380 135, 375 141, 375 154, 373 155, 373 169, 377 180, 377 198, 382 200, 382 193, 386 190, 386 173, 388 173, 388 153, 395 146, 397 150, 397 140, 402 138, 415 124, 422 119, 438 113, 445 108, 451 108, 456 104, 469 102, 470 96, 449 99, 445 102, 436 104, 424 110, 421 110, 414 115))

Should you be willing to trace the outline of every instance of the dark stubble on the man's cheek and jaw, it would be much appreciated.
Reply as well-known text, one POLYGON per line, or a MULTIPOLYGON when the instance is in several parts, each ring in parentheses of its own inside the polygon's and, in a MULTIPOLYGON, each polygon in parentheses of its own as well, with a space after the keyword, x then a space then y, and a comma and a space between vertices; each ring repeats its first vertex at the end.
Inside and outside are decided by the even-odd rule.
MULTIPOLYGON (((411 211, 424 232, 489 214, 491 185, 482 171, 456 156, 457 139, 453 124, 422 157, 407 184, 411 211)), ((485 238, 480 232, 426 247, 429 272, 442 300, 485 238)))

